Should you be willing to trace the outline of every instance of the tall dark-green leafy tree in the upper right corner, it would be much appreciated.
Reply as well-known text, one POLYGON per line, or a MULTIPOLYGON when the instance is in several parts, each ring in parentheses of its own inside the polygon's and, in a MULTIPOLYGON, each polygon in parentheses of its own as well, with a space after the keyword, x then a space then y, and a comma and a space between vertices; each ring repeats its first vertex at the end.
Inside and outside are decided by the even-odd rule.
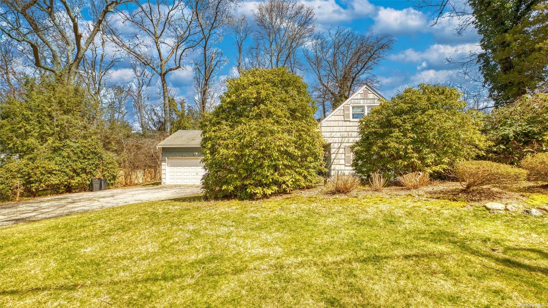
POLYGON ((482 36, 479 70, 495 106, 509 104, 548 79, 548 2, 469 1, 482 36))

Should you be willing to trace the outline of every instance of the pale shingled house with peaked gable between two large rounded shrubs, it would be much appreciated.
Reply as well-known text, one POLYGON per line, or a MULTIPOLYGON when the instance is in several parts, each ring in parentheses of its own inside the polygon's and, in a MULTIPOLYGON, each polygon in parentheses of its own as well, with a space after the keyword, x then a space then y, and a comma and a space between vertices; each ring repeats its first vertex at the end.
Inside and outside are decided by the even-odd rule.
POLYGON ((384 97, 366 84, 319 123, 327 142, 324 152, 329 176, 354 173, 350 146, 359 140, 358 121, 379 105, 379 98, 384 97))

